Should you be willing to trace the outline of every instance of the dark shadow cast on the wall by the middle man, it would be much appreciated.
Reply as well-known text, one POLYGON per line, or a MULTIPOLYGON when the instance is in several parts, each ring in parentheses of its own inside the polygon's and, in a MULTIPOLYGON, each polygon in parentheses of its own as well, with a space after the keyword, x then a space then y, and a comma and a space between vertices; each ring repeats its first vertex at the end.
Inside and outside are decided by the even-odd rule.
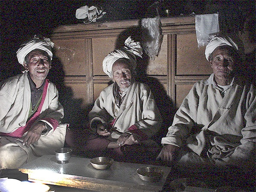
MULTIPOLYGON (((131 36, 134 41, 142 42, 143 39, 145 39, 145 36, 148 36, 147 34, 148 32, 144 31, 144 29, 141 29, 140 26, 127 29, 117 38, 116 49, 120 49, 122 46, 124 46, 124 42, 129 36, 131 36)), ((166 90, 160 81, 154 77, 148 76, 148 62, 149 57, 143 51, 143 58, 137 57, 136 79, 137 81, 147 84, 151 88, 157 107, 162 115, 162 129, 154 138, 154 140, 156 140, 158 143, 161 143, 161 138, 166 136, 169 126, 172 125, 173 117, 177 111, 177 108, 169 95, 167 95, 166 90)))

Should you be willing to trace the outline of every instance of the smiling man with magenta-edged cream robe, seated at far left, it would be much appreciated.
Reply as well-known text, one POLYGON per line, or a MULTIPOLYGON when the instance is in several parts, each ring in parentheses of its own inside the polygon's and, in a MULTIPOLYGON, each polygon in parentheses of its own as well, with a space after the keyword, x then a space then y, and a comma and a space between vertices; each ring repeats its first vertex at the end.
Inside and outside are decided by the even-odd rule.
POLYGON ((54 44, 33 38, 17 51, 26 71, 3 82, 0 89, 0 169, 17 169, 64 146, 67 125, 58 90, 46 79, 54 44))

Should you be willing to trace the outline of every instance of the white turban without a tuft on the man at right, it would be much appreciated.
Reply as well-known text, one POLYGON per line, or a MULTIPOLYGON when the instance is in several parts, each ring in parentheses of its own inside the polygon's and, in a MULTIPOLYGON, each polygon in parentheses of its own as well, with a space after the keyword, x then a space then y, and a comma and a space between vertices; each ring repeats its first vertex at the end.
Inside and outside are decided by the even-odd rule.
POLYGON ((206 57, 207 61, 209 61, 209 56, 212 54, 212 52, 217 47, 224 46, 224 45, 234 47, 236 50, 238 50, 237 44, 234 41, 232 41, 232 39, 230 39, 230 37, 228 37, 228 39, 226 39, 226 38, 214 36, 205 48, 205 57, 206 57))

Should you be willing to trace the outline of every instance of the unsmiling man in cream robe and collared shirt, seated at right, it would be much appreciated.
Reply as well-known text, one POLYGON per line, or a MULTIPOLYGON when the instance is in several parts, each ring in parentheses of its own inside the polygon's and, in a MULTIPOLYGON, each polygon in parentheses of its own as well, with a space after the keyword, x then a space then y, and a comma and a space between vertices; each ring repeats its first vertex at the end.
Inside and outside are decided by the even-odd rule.
POLYGON ((255 165, 256 91, 236 76, 237 51, 230 38, 209 42, 205 55, 213 74, 183 100, 158 158, 185 167, 255 165))

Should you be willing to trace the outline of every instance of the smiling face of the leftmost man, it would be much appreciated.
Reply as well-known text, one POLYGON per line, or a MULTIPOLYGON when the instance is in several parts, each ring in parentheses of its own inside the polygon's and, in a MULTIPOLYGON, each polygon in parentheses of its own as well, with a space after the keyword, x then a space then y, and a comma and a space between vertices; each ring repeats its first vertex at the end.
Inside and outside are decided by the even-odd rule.
POLYGON ((26 56, 24 67, 29 70, 31 79, 35 81, 44 80, 51 68, 51 61, 47 52, 41 49, 35 49, 26 56))

